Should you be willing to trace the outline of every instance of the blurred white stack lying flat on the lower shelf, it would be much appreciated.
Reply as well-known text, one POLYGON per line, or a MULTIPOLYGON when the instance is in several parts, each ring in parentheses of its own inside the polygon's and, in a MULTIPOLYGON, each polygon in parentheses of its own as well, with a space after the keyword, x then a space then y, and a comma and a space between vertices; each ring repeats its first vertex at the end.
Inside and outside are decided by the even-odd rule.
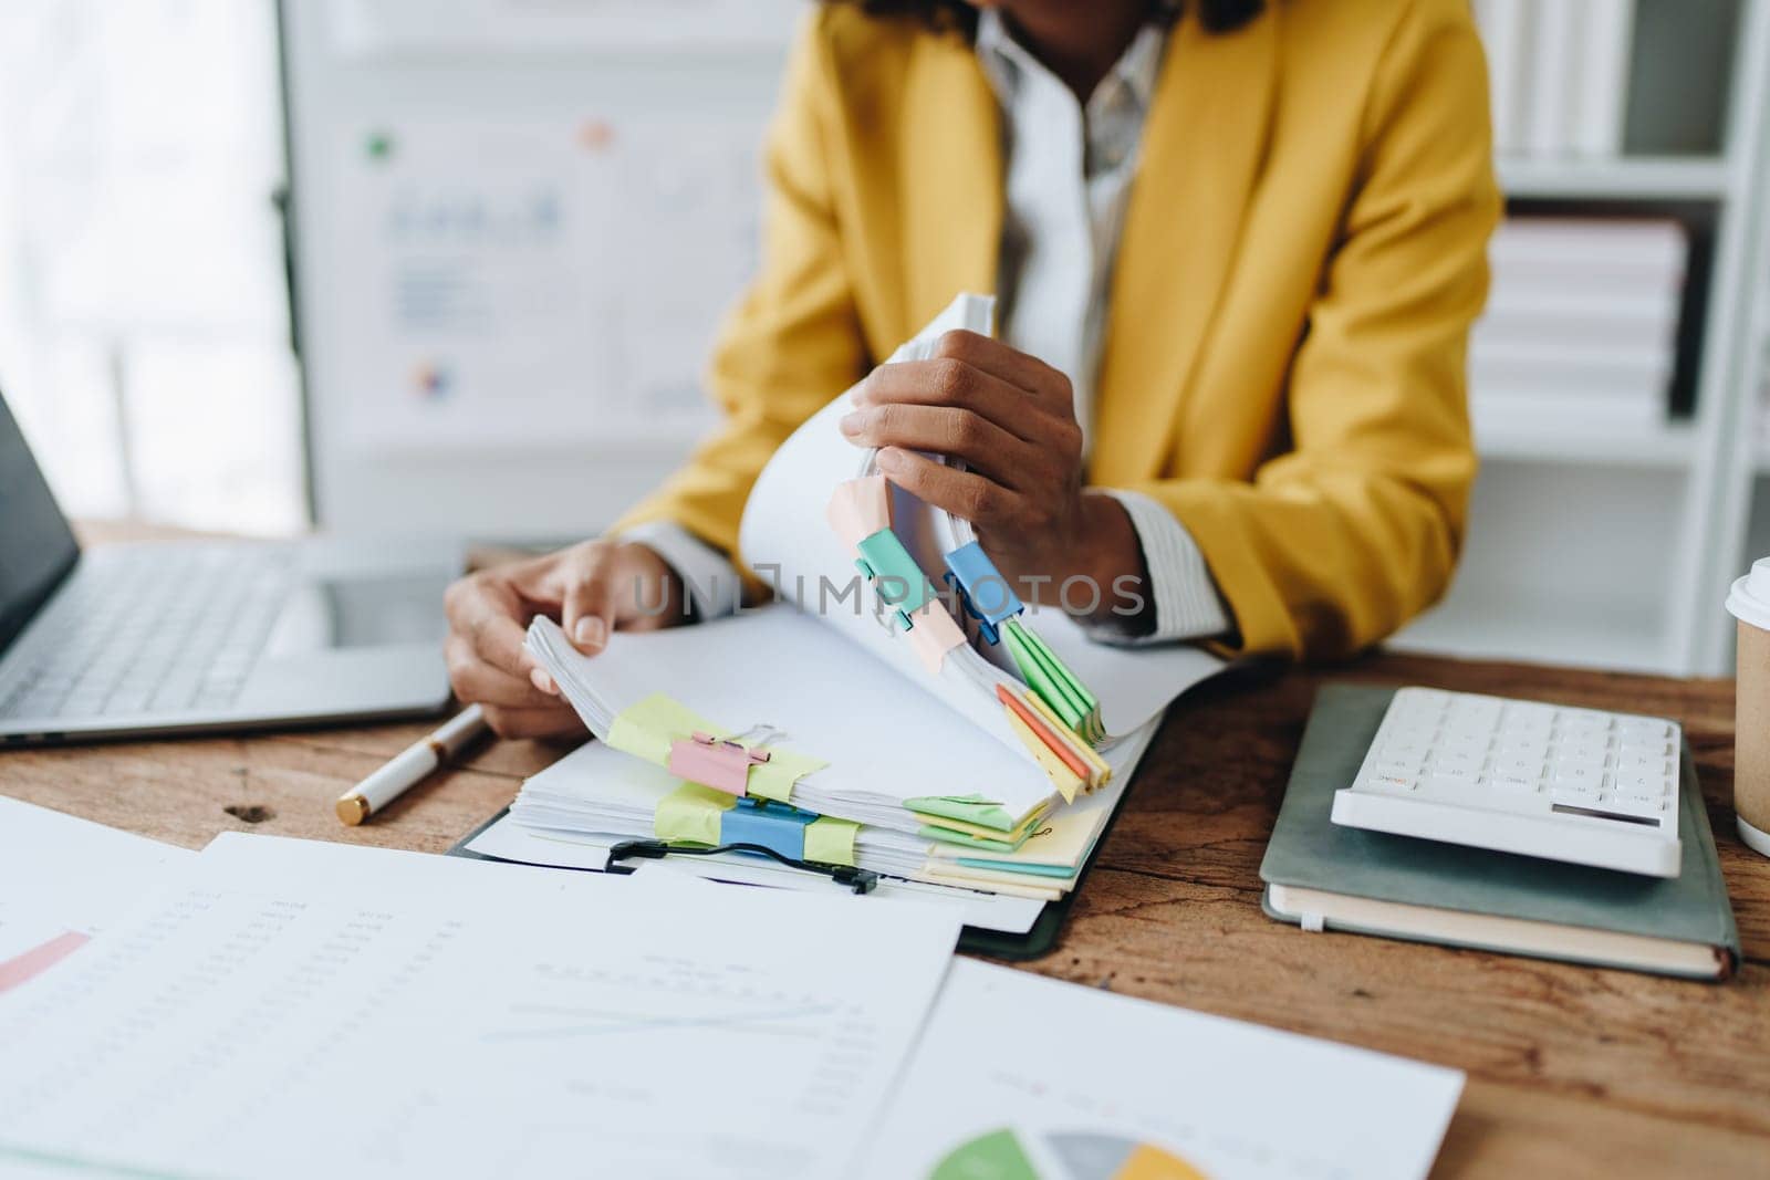
POLYGON ((1508 218, 1469 341, 1485 430, 1653 430, 1666 421, 1689 244, 1671 219, 1508 218))

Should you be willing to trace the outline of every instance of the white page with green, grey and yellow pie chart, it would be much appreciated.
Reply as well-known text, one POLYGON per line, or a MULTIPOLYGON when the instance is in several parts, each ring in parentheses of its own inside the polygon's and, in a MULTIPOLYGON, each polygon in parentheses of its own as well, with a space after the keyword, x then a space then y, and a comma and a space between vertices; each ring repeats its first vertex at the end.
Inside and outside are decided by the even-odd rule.
POLYGON ((958 959, 851 1173, 1420 1180, 1462 1074, 958 959))

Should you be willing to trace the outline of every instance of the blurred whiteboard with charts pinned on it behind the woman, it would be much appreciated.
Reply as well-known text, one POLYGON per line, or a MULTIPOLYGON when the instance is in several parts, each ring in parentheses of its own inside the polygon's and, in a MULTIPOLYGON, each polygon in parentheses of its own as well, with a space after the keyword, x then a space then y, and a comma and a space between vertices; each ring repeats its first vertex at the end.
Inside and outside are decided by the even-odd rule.
POLYGON ((795 0, 285 0, 315 518, 600 531, 715 423, 795 0))

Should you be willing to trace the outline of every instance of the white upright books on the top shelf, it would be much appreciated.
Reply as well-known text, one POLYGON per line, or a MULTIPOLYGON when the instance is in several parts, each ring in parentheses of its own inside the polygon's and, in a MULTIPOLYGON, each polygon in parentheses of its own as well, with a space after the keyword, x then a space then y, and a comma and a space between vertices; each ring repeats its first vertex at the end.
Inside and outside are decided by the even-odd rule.
POLYGON ((1635 0, 1474 0, 1501 156, 1618 156, 1635 0))

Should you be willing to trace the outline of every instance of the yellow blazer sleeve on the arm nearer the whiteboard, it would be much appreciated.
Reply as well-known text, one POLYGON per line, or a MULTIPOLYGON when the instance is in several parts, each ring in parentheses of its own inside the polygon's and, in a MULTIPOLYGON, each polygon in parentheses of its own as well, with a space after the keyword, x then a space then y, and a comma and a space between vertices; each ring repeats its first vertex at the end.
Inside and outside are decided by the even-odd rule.
POLYGON ((825 152, 837 106, 823 32, 821 16, 807 19, 788 60, 765 152, 761 267, 713 347, 708 384, 724 419, 616 533, 671 520, 736 557, 743 502, 768 458, 866 372, 825 152))

